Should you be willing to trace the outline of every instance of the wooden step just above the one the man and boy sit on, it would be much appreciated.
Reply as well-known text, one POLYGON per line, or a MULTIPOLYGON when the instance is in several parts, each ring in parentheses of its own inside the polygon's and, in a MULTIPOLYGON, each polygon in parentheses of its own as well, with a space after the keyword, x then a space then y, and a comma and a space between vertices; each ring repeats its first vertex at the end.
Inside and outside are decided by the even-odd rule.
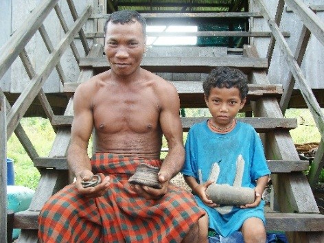
MULTIPOLYGON (((38 169, 51 168, 56 170, 68 170, 67 157, 38 157, 34 159, 34 166, 38 169)), ((303 172, 308 170, 308 161, 266 161, 271 173, 303 172)))

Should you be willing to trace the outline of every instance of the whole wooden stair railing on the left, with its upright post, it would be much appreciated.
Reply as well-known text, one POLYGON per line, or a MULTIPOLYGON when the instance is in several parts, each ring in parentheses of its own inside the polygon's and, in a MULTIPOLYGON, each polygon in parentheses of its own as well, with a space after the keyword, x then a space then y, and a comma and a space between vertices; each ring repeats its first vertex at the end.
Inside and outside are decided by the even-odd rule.
MULTIPOLYGON (((6 211, 5 199, 6 196, 6 143, 11 137, 12 132, 16 134, 19 141, 21 142, 23 148, 25 148, 29 157, 34 161, 38 157, 32 142, 27 137, 25 130, 21 126, 21 118, 25 115, 27 109, 32 104, 33 100, 38 97, 40 103, 43 106, 43 109, 49 119, 54 117, 54 112, 51 109, 51 106, 47 100, 47 97, 43 91, 43 84, 51 74, 51 72, 56 68, 58 76, 62 84, 64 84, 65 73, 60 65, 60 58, 62 54, 65 53, 67 47, 71 47, 73 56, 76 59, 76 62, 80 60, 80 54, 76 45, 74 43, 74 38, 78 35, 81 39, 82 47, 84 53, 89 53, 89 45, 84 35, 82 27, 88 21, 92 13, 92 7, 88 5, 84 11, 78 15, 75 5, 72 0, 67 0, 67 5, 71 11, 71 16, 73 18, 73 24, 68 26, 65 18, 60 10, 58 5, 58 0, 45 0, 32 11, 32 13, 27 17, 24 23, 19 27, 16 32, 11 36, 3 47, 0 49, 0 79, 3 78, 8 69, 12 66, 14 61, 20 57, 23 62, 23 66, 27 72, 27 75, 30 78, 30 82, 27 83, 25 89, 21 92, 18 99, 12 106, 8 102, 8 99, 5 97, 5 94, 0 89, 0 178, 1 178, 1 187, 0 187, 0 200, 1 200, 1 212, 6 211), (50 12, 55 10, 56 15, 62 26, 62 30, 65 32, 65 36, 62 36, 60 42, 56 47, 53 46, 49 35, 43 24, 50 12), (32 62, 27 54, 25 49, 26 45, 30 42, 32 36, 36 32, 40 33, 45 47, 49 52, 47 60, 44 62, 43 67, 40 68, 40 71, 35 71, 32 62), (2 201, 4 200, 4 201, 2 201), (3 209, 3 210, 2 210, 3 209)), ((7 235, 7 213, 3 213, 0 221, 0 235, 4 235, 5 238, 7 235)))

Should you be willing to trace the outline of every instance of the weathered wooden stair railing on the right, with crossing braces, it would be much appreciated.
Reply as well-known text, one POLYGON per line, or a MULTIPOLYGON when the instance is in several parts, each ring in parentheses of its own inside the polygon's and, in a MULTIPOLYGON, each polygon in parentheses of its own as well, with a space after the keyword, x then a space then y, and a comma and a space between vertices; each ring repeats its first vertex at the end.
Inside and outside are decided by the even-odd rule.
MULTIPOLYGON (((312 89, 307 84, 307 80, 301 71, 301 61, 303 60, 303 56, 305 54, 306 47, 308 45, 308 40, 310 39, 310 35, 314 35, 322 45, 324 45, 324 23, 321 21, 319 16, 317 16, 308 6, 303 3, 301 0, 279 0, 277 7, 277 14, 275 19, 270 16, 270 12, 268 11, 264 0, 253 0, 255 4, 260 8, 264 19, 266 19, 270 30, 273 32, 273 37, 270 39, 270 45, 268 48, 268 59, 270 60, 273 53, 273 48, 275 46, 275 42, 279 44, 279 48, 283 53, 283 56, 286 58, 286 62, 290 69, 290 74, 288 76, 287 82, 283 83, 283 95, 280 100, 281 111, 283 114, 286 112, 286 108, 288 107, 288 102, 292 95, 292 89, 294 87, 294 83, 297 82, 299 89, 301 91, 301 95, 305 100, 312 117, 314 118, 314 122, 319 129, 321 134, 321 141, 319 143, 319 148, 315 154, 314 161, 310 167, 310 172, 308 174, 308 181, 310 182, 310 186, 314 187, 316 185, 316 181, 319 178, 319 174, 321 173, 321 169, 324 165, 324 115, 321 111, 321 106, 316 100, 312 89), (299 38, 299 42, 297 44, 297 48, 292 54, 288 43, 285 38, 281 34, 279 30, 278 23, 281 19, 281 13, 283 11, 284 3, 286 3, 292 11, 299 16, 303 23, 303 28, 301 31, 301 36, 299 38)), ((270 64, 269 64, 270 66, 270 64)))

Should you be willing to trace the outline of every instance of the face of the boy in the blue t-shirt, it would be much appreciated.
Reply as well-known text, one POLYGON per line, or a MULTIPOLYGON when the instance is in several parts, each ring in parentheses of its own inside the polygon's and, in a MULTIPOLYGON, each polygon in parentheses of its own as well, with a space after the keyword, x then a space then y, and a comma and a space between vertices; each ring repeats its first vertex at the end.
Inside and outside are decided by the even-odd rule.
POLYGON ((209 97, 205 96, 205 102, 211 115, 212 122, 218 128, 227 128, 233 122, 235 115, 243 108, 246 99, 241 100, 238 88, 230 89, 211 88, 209 97))

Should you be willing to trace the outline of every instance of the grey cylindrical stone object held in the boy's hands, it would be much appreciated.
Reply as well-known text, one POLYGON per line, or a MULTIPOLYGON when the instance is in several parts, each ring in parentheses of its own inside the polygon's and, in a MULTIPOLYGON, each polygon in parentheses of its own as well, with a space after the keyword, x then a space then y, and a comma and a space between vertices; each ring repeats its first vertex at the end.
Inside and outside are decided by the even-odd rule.
POLYGON ((246 205, 254 203, 255 191, 249 187, 233 187, 227 184, 209 185, 206 194, 213 203, 218 205, 246 205))

